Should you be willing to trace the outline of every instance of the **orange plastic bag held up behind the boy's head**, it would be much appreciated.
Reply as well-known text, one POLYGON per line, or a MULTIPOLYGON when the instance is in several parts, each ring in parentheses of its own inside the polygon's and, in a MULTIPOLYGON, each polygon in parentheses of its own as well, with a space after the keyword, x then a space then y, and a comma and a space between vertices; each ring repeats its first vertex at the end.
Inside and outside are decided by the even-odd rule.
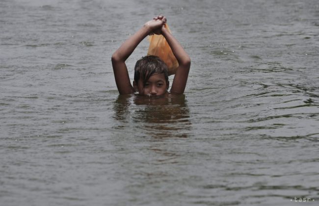
MULTIPOLYGON (((165 28, 171 33, 167 24, 165 24, 165 28)), ((148 48, 147 55, 160 57, 160 59, 167 65, 168 76, 175 75, 178 67, 178 61, 163 35, 153 34, 152 36, 149 36, 149 41, 150 46, 148 48)))

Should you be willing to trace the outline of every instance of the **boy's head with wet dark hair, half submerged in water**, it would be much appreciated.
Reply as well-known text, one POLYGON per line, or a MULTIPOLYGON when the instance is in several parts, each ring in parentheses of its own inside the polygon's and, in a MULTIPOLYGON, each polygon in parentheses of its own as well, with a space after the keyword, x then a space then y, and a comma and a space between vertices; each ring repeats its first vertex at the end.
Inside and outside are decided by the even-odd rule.
POLYGON ((134 90, 144 95, 163 95, 169 87, 166 64, 158 56, 144 56, 134 68, 134 90))

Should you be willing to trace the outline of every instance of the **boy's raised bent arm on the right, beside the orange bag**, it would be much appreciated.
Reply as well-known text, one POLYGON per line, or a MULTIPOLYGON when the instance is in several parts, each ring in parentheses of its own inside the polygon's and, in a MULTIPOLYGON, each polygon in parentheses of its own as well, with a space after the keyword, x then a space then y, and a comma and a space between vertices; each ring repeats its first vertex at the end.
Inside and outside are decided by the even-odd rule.
POLYGON ((161 34, 165 37, 179 64, 170 91, 183 94, 190 69, 190 58, 177 39, 165 27, 161 28, 161 34))

